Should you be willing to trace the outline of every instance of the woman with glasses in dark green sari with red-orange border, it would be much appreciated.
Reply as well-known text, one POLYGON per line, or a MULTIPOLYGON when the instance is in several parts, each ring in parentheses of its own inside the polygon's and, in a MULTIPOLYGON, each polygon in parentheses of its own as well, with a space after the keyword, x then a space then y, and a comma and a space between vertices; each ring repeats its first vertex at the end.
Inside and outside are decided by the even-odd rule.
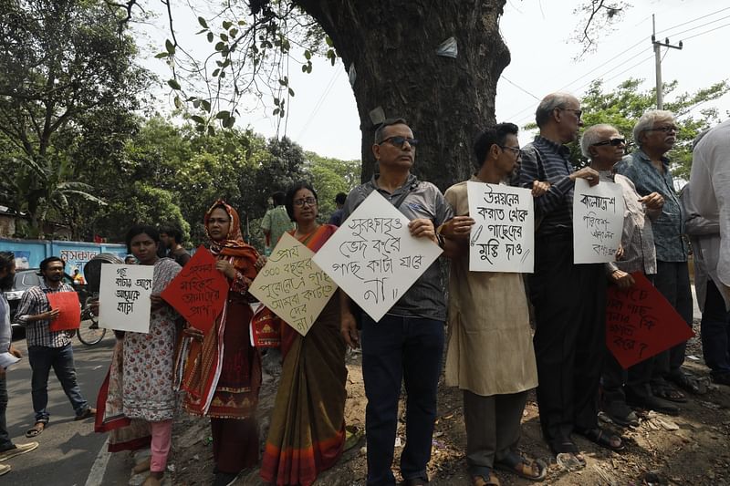
MULTIPOLYGON (((285 205, 297 222, 289 233, 313 252, 337 230, 317 222, 317 193, 306 182, 289 188, 285 205)), ((337 295, 307 336, 282 326, 281 381, 261 465, 265 481, 308 486, 339 460, 345 442, 345 350, 337 295)))

